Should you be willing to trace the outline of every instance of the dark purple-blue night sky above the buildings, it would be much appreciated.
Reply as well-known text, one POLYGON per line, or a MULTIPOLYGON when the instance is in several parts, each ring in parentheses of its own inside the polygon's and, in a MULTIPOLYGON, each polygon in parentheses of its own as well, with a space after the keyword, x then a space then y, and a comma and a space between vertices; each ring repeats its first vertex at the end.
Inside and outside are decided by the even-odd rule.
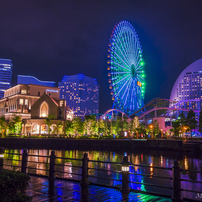
POLYGON ((169 98, 180 72, 202 57, 200 0, 38 0, 0 2, 0 58, 17 75, 58 84, 83 73, 100 86, 100 112, 111 108, 107 49, 114 25, 129 21, 145 61, 145 103, 169 98))

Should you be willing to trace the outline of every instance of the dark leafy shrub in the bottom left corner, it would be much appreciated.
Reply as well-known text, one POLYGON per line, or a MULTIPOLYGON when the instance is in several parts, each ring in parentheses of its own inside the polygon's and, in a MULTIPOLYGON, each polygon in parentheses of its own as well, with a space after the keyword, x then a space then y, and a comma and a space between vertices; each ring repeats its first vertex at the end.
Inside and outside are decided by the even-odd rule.
POLYGON ((25 195, 29 185, 28 174, 19 171, 3 170, 0 172, 0 201, 1 202, 25 202, 31 201, 31 197, 25 195))

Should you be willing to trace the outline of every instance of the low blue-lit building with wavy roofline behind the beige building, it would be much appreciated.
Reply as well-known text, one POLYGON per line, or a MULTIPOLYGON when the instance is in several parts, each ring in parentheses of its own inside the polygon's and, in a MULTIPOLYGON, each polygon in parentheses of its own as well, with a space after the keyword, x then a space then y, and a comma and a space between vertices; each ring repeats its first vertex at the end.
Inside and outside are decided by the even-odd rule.
POLYGON ((34 76, 18 75, 17 84, 35 84, 41 86, 55 87, 55 82, 53 81, 40 81, 34 76))

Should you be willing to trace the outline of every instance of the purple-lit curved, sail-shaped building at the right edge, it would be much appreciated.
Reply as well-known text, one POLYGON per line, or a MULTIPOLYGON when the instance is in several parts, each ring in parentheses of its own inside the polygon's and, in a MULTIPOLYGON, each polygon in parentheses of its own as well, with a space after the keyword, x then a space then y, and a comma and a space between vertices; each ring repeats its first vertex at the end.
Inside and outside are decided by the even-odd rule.
MULTIPOLYGON (((179 102, 182 109, 200 111, 202 107, 202 58, 190 64, 178 76, 170 100, 179 102)), ((199 113, 196 113, 198 118, 199 113)))

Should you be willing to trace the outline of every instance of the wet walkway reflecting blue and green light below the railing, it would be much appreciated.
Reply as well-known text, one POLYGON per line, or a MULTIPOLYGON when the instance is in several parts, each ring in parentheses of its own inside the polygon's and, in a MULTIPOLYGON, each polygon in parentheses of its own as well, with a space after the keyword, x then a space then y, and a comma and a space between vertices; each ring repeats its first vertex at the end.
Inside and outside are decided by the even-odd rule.
POLYGON ((32 202, 55 202, 55 201, 82 201, 82 202, 102 202, 102 201, 137 201, 137 202, 171 202, 170 199, 147 194, 130 192, 123 196, 122 193, 113 188, 105 188, 89 185, 86 190, 82 190, 78 182, 65 180, 55 181, 55 190, 52 196, 48 194, 47 178, 31 176, 31 182, 26 191, 32 196, 32 202))

